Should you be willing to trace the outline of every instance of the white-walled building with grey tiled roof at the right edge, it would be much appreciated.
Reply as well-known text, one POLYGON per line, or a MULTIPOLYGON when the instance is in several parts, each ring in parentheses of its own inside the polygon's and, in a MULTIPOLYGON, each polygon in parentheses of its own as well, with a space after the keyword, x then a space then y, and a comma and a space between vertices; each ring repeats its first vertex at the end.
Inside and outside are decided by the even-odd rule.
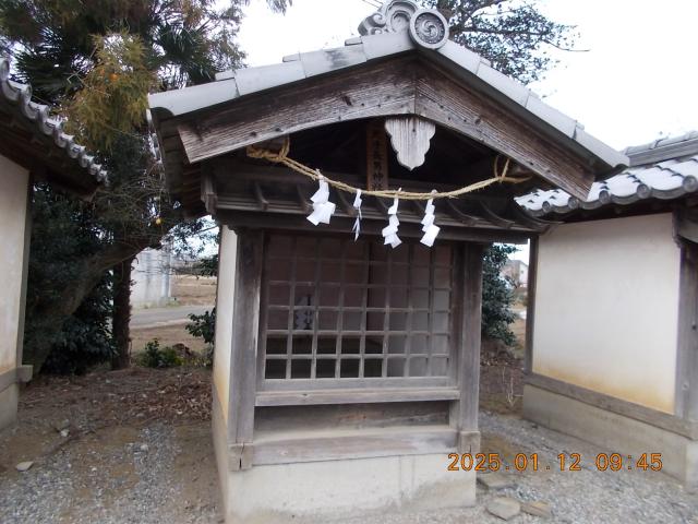
POLYGON ((587 201, 518 199, 564 221, 531 250, 524 413, 698 488, 698 133, 626 153, 587 201))

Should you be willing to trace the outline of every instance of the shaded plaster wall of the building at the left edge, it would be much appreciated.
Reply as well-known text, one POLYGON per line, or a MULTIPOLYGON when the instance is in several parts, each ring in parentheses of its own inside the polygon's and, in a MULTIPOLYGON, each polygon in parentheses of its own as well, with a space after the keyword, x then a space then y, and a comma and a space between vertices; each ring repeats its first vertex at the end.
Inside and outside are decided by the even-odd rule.
POLYGON ((29 172, 0 155, 0 372, 16 367, 29 172))

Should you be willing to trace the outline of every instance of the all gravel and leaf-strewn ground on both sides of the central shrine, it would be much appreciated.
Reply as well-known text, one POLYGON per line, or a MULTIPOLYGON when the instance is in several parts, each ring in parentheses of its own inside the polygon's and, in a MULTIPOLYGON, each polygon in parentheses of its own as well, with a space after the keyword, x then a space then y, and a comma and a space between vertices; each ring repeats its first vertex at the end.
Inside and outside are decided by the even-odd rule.
MULTIPOLYGON (((502 382, 498 368, 491 374, 494 390, 502 382)), ((20 424, 0 431, 0 523, 222 522, 210 422, 202 407, 210 403, 208 380, 204 371, 136 369, 50 380, 27 390, 20 424), (61 436, 55 426, 65 418, 69 434, 61 436), (34 465, 19 473, 14 466, 22 461, 34 465)), ((516 414, 485 407, 480 427, 484 453, 498 453, 504 466, 512 466, 517 453, 538 453, 540 471, 502 473, 510 486, 496 490, 479 484, 474 508, 342 524, 501 523, 485 509, 501 496, 546 502, 553 517, 545 522, 698 524, 698 495, 661 473, 598 472, 594 457, 609 450, 516 414), (581 454, 582 469, 561 472, 557 455, 563 452, 581 454)), ((661 450, 648 450, 653 451, 661 450)), ((510 522, 543 521, 520 514, 510 522)))

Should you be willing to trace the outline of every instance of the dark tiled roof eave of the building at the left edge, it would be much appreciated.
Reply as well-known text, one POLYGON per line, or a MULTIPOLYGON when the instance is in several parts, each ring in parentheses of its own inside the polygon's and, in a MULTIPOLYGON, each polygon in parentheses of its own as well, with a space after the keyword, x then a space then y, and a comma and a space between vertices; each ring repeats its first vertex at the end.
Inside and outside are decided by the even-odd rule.
POLYGON ((63 132, 63 121, 50 116, 50 107, 32 102, 32 86, 10 80, 10 60, 0 57, 0 154, 25 167, 37 160, 47 168, 46 177, 64 189, 89 196, 107 180, 103 169, 85 146, 63 132))

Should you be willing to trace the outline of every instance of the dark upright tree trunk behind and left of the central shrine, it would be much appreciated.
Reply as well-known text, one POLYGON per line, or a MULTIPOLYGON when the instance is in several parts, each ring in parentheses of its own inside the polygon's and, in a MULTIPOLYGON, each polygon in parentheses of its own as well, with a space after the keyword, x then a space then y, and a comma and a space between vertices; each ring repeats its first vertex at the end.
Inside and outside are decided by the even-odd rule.
POLYGON ((131 257, 113 267, 113 340, 117 353, 111 358, 111 369, 125 369, 130 365, 131 331, 131 257))

